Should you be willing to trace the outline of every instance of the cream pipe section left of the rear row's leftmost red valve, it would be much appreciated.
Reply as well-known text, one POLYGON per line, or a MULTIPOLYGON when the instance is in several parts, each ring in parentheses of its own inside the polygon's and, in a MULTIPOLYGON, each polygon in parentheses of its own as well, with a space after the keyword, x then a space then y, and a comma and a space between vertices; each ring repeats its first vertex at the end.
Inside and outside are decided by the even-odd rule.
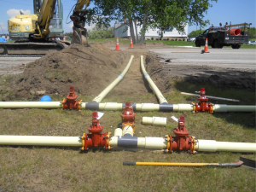
POLYGON ((61 102, 0 102, 0 108, 62 108, 61 102))

